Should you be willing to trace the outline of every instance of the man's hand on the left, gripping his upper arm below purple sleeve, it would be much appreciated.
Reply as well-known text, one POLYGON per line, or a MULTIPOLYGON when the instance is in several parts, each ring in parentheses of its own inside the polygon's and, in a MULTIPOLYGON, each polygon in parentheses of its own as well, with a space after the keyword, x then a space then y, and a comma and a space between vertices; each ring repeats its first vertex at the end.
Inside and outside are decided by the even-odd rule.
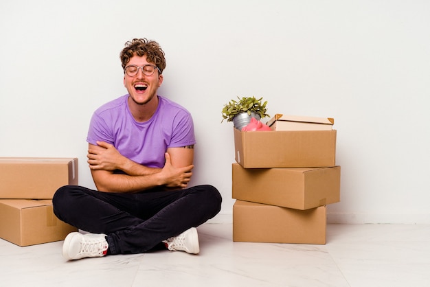
POLYGON ((121 170, 125 157, 118 150, 105 141, 97 141, 98 146, 88 149, 88 163, 91 170, 121 170))

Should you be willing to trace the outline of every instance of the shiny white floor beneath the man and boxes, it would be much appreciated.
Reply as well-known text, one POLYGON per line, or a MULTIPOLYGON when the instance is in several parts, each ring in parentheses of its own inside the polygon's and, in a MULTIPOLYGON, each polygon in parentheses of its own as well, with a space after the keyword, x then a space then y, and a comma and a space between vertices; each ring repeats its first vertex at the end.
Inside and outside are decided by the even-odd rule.
POLYGON ((0 240, 0 286, 430 286, 430 225, 328 225, 325 245, 232 242, 228 224, 198 230, 199 255, 72 262, 63 242, 0 240))

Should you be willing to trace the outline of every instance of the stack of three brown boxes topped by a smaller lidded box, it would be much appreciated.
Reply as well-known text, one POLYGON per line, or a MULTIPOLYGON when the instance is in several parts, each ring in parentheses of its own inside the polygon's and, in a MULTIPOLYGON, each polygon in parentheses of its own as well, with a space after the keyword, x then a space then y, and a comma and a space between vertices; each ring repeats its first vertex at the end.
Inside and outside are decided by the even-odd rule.
POLYGON ((326 205, 340 200, 333 123, 275 115, 271 131, 234 129, 234 241, 326 243, 326 205))

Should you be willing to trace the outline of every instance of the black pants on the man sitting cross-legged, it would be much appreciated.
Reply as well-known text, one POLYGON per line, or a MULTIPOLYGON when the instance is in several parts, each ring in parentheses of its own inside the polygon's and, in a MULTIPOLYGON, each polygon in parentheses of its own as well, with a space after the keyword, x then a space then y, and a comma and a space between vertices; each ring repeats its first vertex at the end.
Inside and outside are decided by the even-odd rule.
POLYGON ((144 253, 162 240, 218 214, 221 196, 212 185, 138 194, 108 193, 66 185, 53 198, 54 214, 69 225, 105 233, 109 253, 144 253))

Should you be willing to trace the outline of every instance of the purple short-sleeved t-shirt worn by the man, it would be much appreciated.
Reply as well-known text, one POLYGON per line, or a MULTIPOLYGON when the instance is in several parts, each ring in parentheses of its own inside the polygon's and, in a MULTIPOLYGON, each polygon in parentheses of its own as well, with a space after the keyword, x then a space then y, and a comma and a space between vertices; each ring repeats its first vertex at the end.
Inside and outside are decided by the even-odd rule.
POLYGON ((136 122, 128 108, 128 94, 100 106, 91 117, 87 141, 106 141, 128 159, 149 168, 163 168, 167 148, 196 143, 190 113, 158 96, 157 111, 147 122, 136 122))

